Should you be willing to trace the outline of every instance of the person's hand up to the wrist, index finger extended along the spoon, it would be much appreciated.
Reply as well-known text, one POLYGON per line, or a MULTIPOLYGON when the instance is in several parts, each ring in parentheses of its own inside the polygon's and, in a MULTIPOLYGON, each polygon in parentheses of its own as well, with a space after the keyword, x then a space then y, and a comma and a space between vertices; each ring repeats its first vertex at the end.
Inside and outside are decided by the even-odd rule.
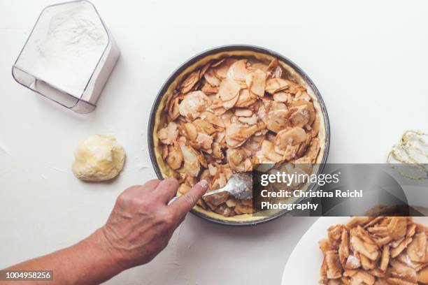
POLYGON ((150 180, 129 187, 117 198, 100 231, 121 270, 148 263, 166 247, 173 231, 206 192, 207 182, 202 180, 168 205, 178 186, 175 178, 150 180))

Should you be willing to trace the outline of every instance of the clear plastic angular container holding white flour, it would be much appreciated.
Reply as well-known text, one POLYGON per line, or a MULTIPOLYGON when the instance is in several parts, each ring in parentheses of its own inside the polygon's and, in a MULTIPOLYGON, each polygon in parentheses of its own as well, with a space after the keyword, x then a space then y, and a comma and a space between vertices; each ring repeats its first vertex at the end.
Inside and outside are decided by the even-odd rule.
MULTIPOLYGON (((48 45, 47 47, 50 48, 48 45)), ((27 42, 24 44, 15 64, 13 64, 12 75, 24 87, 50 98, 50 100, 64 107, 78 113, 88 113, 96 107, 102 89, 110 73, 113 71, 119 56, 119 48, 110 31, 108 31, 106 25, 101 20, 94 5, 85 0, 70 1, 51 5, 43 9, 27 42), (58 15, 59 17, 69 17, 69 10, 71 9, 85 9, 85 13, 89 13, 88 15, 91 17, 93 16, 91 21, 94 21, 98 27, 102 27, 102 34, 99 35, 103 37, 103 40, 100 46, 97 47, 97 50, 91 54, 91 59, 82 63, 85 64, 85 70, 80 71, 76 69, 76 66, 78 66, 76 65, 76 57, 66 57, 66 59, 62 59, 64 63, 69 61, 71 65, 74 64, 78 72, 73 73, 76 75, 72 76, 64 75, 64 78, 59 76, 61 80, 53 80, 52 77, 58 78, 57 75, 64 73, 64 68, 56 68, 54 64, 53 67, 50 66, 48 73, 37 72, 40 70, 43 71, 43 65, 40 66, 40 45, 43 41, 47 41, 46 35, 49 29, 52 29, 50 28, 52 19, 58 17, 58 15), (38 66, 38 68, 35 68, 35 66, 38 66), (49 76, 49 74, 52 75, 54 73, 55 76, 49 76), (79 80, 76 80, 79 76, 79 80), (68 82, 73 82, 73 88, 67 86, 68 82)), ((49 68, 48 66, 47 68, 49 68)))

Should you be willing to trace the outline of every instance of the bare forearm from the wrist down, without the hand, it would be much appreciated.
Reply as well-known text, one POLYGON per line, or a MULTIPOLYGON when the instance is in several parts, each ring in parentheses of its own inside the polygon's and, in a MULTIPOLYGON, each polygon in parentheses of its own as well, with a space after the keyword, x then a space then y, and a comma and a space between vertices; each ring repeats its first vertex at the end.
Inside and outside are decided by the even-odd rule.
MULTIPOLYGON (((51 285, 100 284, 122 271, 110 254, 108 241, 101 229, 71 247, 14 265, 7 270, 52 270, 51 285)), ((45 282, 34 282, 38 284, 45 282)), ((0 284, 4 284, 0 282, 0 284)), ((31 284, 30 282, 13 282, 31 284)))

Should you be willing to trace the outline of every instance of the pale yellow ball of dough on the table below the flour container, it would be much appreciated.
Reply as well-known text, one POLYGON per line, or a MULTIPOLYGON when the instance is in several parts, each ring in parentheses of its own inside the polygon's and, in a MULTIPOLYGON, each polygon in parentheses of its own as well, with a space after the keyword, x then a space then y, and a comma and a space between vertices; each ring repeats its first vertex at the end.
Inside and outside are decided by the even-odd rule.
POLYGON ((105 181, 123 168, 125 153, 114 136, 93 135, 79 142, 74 152, 74 175, 86 181, 105 181))

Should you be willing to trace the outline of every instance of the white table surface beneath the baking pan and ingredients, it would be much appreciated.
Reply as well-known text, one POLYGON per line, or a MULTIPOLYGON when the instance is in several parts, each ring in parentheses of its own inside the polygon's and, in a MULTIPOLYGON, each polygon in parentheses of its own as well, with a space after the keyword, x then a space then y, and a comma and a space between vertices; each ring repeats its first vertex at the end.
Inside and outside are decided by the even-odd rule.
MULTIPOLYGON (((155 177, 150 108, 171 72, 217 45, 275 50, 308 73, 331 121, 329 162, 383 162, 406 129, 428 131, 427 1, 93 1, 122 57, 97 109, 76 115, 18 85, 10 68, 41 9, 0 0, 0 268, 85 238, 116 196, 155 177), (127 152, 120 177, 80 182, 80 138, 113 133, 127 152)), ((279 284, 315 218, 253 228, 188 215, 152 263, 107 284, 279 284)))

